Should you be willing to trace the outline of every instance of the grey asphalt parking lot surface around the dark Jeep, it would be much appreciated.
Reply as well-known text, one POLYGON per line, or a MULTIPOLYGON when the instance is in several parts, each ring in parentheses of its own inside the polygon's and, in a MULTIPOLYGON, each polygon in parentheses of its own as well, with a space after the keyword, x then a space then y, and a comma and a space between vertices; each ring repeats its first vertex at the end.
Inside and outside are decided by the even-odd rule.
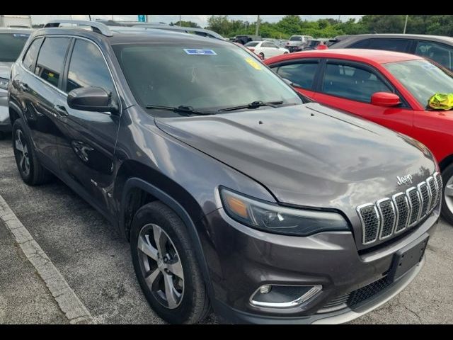
MULTIPOLYGON (((10 140, 0 141, 0 195, 96 322, 164 323, 142 295, 132 268, 129 244, 101 214, 61 181, 55 179, 39 187, 23 183, 10 140)), ((453 227, 440 221, 428 244, 425 266, 413 283, 378 310, 350 323, 453 324, 452 245, 453 227)), ((33 267, 20 253, 21 249, 14 246, 8 230, 0 223, 0 324, 67 323, 52 295, 33 276, 36 275, 33 267), (8 261, 11 257, 16 259, 8 261), (35 280, 30 283, 35 287, 35 294, 20 279, 22 276, 35 280), (14 284, 16 280, 22 285, 14 284), (35 303, 31 305, 8 302, 14 296, 30 300, 32 295, 35 303), (37 309, 46 310, 45 315, 31 315, 37 309)), ((211 314, 205 323, 217 323, 217 318, 211 314)))

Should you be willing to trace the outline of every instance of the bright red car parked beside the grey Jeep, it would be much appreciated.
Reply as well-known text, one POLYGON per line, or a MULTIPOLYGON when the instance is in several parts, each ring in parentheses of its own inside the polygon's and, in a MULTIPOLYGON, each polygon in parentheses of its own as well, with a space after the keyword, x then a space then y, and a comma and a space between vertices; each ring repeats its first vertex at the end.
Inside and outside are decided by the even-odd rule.
POLYGON ((313 50, 264 63, 314 101, 426 145, 442 171, 442 215, 453 224, 453 111, 428 107, 433 94, 453 93, 451 72, 423 57, 382 50, 313 50))

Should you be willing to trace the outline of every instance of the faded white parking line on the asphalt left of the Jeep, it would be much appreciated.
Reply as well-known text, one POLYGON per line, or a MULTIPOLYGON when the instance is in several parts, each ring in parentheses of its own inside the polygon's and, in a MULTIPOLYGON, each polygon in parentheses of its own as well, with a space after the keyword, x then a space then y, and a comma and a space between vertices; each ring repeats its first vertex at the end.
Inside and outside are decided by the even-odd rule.
POLYGON ((8 203, 0 195, 0 220, 21 246, 28 261, 32 263, 38 275, 47 285, 50 293, 55 298, 59 308, 69 319, 70 324, 96 324, 96 321, 77 297, 74 290, 69 286, 62 274, 54 266, 49 257, 41 249, 38 242, 33 239, 30 232, 23 226, 8 203))

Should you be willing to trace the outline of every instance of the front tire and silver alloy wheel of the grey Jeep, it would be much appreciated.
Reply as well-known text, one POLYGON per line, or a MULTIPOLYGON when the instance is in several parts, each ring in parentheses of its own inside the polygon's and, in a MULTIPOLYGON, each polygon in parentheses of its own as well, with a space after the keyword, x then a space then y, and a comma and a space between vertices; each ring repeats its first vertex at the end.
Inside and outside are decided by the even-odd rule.
POLYGON ((132 263, 151 308, 171 324, 195 324, 205 319, 210 312, 205 283, 178 215, 159 201, 148 203, 134 215, 130 233, 132 263))

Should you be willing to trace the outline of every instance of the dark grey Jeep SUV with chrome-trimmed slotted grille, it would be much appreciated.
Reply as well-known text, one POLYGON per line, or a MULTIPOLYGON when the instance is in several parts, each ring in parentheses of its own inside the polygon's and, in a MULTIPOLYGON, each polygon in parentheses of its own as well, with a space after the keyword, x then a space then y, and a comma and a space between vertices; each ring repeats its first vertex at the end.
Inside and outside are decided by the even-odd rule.
POLYGON ((59 177, 130 241, 159 316, 346 322, 415 278, 440 214, 426 147, 231 42, 85 25, 47 25, 13 64, 18 172, 59 177))

